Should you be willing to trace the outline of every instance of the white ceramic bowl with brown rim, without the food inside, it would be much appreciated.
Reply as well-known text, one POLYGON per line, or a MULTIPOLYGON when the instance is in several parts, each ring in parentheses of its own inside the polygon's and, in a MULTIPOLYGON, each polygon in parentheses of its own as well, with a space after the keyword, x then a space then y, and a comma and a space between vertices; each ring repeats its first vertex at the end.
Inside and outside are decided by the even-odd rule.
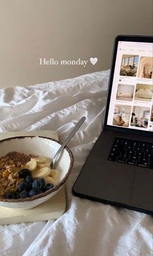
MULTIPOLYGON (((5 156, 8 152, 17 151, 25 154, 45 156, 53 158, 54 154, 60 148, 61 143, 55 139, 49 139, 41 136, 19 136, 10 137, 0 141, 0 157, 5 156)), ((24 199, 2 199, 0 198, 0 206, 8 208, 29 209, 40 205, 41 203, 51 199, 61 188, 71 173, 73 167, 73 154, 67 147, 63 150, 57 164, 56 169, 59 171, 58 183, 47 192, 40 193, 33 197, 24 199)))

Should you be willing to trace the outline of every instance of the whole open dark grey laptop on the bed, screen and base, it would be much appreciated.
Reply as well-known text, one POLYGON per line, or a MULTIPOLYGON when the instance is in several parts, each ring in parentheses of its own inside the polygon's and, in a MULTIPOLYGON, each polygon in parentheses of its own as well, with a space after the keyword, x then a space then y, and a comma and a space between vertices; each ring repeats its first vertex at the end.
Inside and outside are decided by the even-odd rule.
POLYGON ((153 214, 153 36, 115 38, 103 130, 78 197, 153 214))

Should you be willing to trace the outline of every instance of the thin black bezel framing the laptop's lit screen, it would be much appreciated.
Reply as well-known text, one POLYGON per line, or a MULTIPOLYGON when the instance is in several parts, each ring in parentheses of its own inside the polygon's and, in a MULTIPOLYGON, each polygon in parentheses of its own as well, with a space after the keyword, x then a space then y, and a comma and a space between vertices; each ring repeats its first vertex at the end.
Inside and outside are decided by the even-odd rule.
POLYGON ((132 128, 124 128, 124 127, 117 127, 108 125, 108 111, 110 107, 110 97, 112 92, 112 85, 113 85, 113 75, 115 70, 115 61, 117 56, 117 47, 119 41, 126 41, 126 42, 148 42, 153 43, 153 36, 135 36, 135 35, 118 35, 115 38, 115 42, 113 45, 113 55, 112 55, 112 64, 110 69, 110 79, 108 83, 108 96, 107 96, 107 104, 106 104, 106 112, 104 117, 104 130, 113 130, 116 132, 124 132, 127 134, 137 134, 137 135, 144 135, 144 136, 153 136, 153 130, 150 131, 143 131, 143 130, 136 130, 132 128))

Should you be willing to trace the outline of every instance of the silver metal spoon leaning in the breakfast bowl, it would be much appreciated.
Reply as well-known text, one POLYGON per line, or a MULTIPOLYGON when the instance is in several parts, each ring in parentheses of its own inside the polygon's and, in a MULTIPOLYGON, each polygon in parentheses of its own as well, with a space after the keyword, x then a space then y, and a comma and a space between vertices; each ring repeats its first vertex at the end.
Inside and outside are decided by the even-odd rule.
POLYGON ((56 154, 53 156, 53 160, 51 162, 51 169, 54 169, 54 165, 56 164, 56 158, 58 157, 58 155, 64 150, 65 145, 67 145, 67 143, 70 141, 70 139, 73 137, 73 135, 75 135, 75 133, 77 132, 78 128, 80 128, 80 126, 83 124, 83 122, 86 120, 86 117, 82 117, 80 119, 80 121, 78 121, 78 123, 76 124, 75 128, 71 131, 71 133, 67 136, 67 138, 65 139, 64 143, 62 144, 62 146, 60 147, 60 149, 57 150, 56 154))

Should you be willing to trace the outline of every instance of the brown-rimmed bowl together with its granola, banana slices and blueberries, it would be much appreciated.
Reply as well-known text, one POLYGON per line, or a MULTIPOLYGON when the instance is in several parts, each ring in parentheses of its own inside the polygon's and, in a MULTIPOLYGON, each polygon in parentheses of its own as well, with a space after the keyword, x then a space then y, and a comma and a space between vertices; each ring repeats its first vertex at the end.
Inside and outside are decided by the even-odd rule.
MULTIPOLYGON (((20 209, 34 208, 51 199, 51 197, 58 193, 69 177, 74 162, 71 150, 69 150, 68 147, 65 147, 57 158, 55 165, 56 169, 51 170, 51 160, 61 145, 60 141, 57 141, 56 139, 41 136, 18 136, 1 140, 0 206, 20 209), (25 162, 21 161, 21 157, 21 159, 16 159, 18 156, 22 156, 25 162), (8 161, 7 166, 5 165, 5 160, 8 161), (28 180, 26 175, 28 175, 28 177, 31 176, 32 178, 30 192, 27 187, 26 189, 22 188, 21 190, 21 187, 24 187, 23 185, 28 180), (54 175, 58 177, 56 180, 54 175), (33 189, 34 184, 35 186, 40 185, 40 180, 43 182, 45 180, 45 182, 42 185, 42 189, 39 190, 39 193, 36 193, 38 192, 38 189, 33 189), (12 186, 10 191, 8 190, 9 186, 6 185, 6 182, 8 182, 10 187, 12 186), (15 185, 11 184, 11 182, 15 182, 15 185), (3 195, 4 186, 5 189, 8 190, 6 195, 3 195), (14 186, 17 192, 12 192, 14 186), (25 195, 23 196, 24 192, 25 195), (18 196, 10 197, 9 193, 14 193, 14 195, 15 193, 17 195, 18 193, 18 196)), ((26 186, 29 186, 29 184, 26 186)))

